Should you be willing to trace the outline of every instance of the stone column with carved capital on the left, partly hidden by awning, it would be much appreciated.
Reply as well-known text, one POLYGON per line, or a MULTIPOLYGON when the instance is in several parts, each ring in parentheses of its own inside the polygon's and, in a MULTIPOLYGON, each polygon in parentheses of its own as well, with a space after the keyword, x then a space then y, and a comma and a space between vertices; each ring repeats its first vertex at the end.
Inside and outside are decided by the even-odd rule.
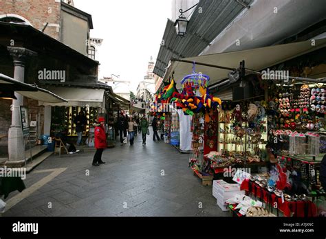
MULTIPOLYGON (((10 56, 14 60, 14 79, 24 82, 25 62, 29 56, 36 56, 36 52, 23 47, 7 47, 10 56)), ((9 161, 21 161, 25 159, 23 130, 21 128, 21 111, 23 95, 14 94, 17 100, 12 100, 12 122, 8 132, 9 161)))

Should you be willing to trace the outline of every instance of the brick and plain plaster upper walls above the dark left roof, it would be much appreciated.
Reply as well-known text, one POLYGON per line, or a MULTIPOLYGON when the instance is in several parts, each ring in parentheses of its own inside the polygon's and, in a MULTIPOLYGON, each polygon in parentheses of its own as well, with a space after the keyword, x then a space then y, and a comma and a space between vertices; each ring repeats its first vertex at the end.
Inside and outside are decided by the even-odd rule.
POLYGON ((88 55, 91 15, 74 8, 71 0, 0 1, 0 21, 32 25, 32 27, 88 55), (78 39, 78 41, 76 41, 78 39))

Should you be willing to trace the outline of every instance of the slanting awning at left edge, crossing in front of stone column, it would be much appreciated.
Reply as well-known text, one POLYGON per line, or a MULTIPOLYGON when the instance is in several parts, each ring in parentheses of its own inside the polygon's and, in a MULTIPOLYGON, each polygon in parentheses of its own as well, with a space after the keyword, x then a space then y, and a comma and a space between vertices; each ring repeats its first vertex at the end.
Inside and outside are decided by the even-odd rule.
POLYGON ((20 82, 19 80, 15 80, 14 78, 0 73, 0 95, 2 93, 10 93, 10 91, 15 91, 34 100, 42 100, 49 103, 67 102, 67 100, 51 91, 47 91, 33 84, 20 82))

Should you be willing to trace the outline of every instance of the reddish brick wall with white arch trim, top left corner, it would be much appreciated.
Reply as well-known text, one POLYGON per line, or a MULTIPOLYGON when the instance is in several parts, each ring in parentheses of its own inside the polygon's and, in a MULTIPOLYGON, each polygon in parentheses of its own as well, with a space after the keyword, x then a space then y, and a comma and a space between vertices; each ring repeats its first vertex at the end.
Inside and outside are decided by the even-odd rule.
POLYGON ((43 30, 44 23, 49 23, 45 34, 60 40, 60 29, 52 24, 61 24, 61 5, 55 0, 0 0, 0 16, 17 14, 30 21, 33 27, 43 30))

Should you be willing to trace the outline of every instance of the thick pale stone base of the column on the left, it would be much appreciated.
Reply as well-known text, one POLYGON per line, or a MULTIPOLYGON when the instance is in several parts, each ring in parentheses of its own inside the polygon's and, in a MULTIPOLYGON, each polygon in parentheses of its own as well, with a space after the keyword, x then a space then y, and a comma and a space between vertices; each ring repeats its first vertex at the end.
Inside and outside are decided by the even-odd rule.
POLYGON ((22 161, 25 159, 24 137, 21 127, 10 127, 8 133, 9 161, 22 161))

